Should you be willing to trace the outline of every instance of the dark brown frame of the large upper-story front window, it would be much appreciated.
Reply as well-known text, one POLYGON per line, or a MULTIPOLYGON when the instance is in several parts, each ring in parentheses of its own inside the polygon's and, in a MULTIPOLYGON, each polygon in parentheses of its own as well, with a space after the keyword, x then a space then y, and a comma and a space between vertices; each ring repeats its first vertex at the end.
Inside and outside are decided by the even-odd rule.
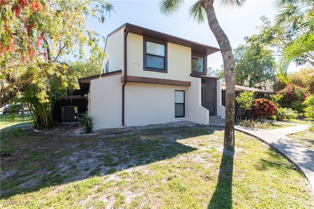
MULTIPOLYGON (((144 37, 143 38, 143 70, 148 70, 148 71, 154 71, 154 72, 163 72, 163 73, 168 73, 168 56, 167 56, 167 51, 168 51, 168 47, 167 47, 167 42, 165 41, 160 41, 160 40, 156 40, 156 39, 151 39, 148 37, 144 37), (165 56, 164 56, 164 70, 162 69, 157 69, 157 68, 148 68, 146 67, 146 42, 152 42, 152 43, 156 43, 156 44, 161 44, 165 46, 165 56)), ((152 55, 152 54, 149 54, 152 55)), ((156 56, 156 55, 152 55, 152 56, 156 56)), ((156 56, 156 57, 160 57, 160 56, 156 56)))

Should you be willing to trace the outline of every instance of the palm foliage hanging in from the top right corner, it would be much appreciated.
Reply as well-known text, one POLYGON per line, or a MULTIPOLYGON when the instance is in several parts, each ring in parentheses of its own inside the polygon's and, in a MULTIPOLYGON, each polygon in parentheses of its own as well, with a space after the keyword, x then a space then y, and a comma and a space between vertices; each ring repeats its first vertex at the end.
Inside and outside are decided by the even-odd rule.
POLYGON ((287 70, 292 59, 305 56, 314 67, 314 0, 275 0, 277 25, 296 28, 299 33, 278 56, 279 76, 288 83, 287 70))

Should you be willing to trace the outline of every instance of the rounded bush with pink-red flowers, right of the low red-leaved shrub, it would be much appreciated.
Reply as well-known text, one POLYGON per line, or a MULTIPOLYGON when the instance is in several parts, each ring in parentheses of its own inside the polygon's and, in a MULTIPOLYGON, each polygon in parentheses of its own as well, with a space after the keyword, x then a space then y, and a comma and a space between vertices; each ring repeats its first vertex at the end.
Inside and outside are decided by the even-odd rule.
POLYGON ((297 110, 298 112, 303 112, 304 106, 303 102, 307 97, 306 89, 290 83, 283 90, 277 92, 277 94, 283 95, 280 102, 282 107, 291 108, 292 110, 297 110))

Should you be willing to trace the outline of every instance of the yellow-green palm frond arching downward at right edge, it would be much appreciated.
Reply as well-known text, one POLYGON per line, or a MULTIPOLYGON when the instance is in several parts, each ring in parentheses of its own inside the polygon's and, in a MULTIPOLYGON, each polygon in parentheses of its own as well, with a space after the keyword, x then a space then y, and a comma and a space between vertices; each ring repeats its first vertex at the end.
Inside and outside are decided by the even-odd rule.
POLYGON ((298 37, 289 44, 279 55, 278 70, 279 76, 288 83, 287 70, 294 57, 314 51, 314 34, 308 33, 298 37))

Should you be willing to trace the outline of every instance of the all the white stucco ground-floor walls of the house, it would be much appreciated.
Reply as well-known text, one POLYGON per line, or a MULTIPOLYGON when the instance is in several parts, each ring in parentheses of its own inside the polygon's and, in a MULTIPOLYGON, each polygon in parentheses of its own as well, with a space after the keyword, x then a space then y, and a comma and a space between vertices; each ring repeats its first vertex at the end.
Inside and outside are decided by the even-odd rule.
MULTIPOLYGON (((120 78, 121 74, 116 74, 91 80, 89 114, 94 117, 94 130, 123 127, 120 78)), ((218 91, 221 90, 217 88, 217 95, 218 91)), ((221 93, 219 95, 221 97, 221 93)), ((209 110, 202 107, 201 98, 200 78, 191 77, 189 87, 128 82, 125 86, 125 127, 178 121, 209 124, 209 110), (185 117, 175 117, 176 90, 184 91, 185 117)), ((217 115, 224 118, 221 102, 220 106, 217 104, 217 115)))

